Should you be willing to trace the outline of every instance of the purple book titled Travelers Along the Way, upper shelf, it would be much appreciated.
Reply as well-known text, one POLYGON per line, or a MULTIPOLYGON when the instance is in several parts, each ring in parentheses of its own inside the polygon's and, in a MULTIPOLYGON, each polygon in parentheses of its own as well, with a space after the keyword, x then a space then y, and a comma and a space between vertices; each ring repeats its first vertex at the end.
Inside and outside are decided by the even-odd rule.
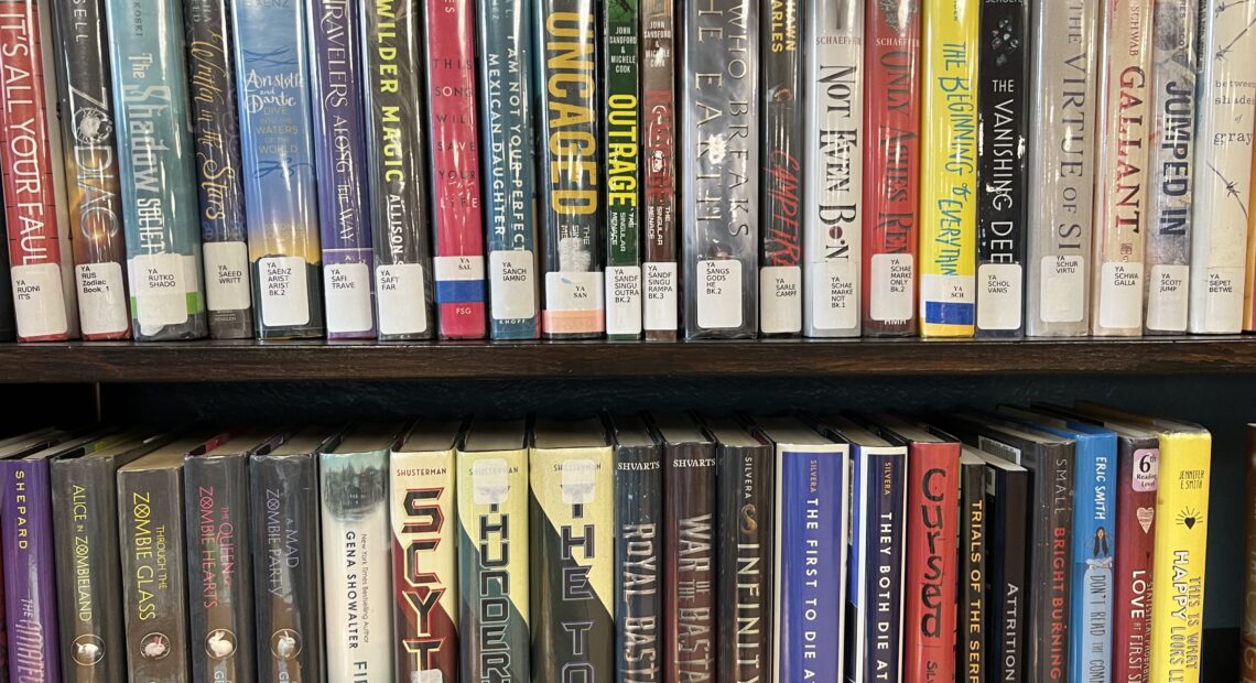
POLYGON ((374 265, 359 82, 360 0, 309 4, 314 159, 328 339, 374 339, 374 265))

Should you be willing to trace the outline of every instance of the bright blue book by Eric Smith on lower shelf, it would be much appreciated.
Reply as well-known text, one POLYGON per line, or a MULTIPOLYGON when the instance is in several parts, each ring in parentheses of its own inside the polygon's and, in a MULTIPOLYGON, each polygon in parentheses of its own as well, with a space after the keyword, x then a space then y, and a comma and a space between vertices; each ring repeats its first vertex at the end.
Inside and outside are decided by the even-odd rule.
POLYGON ((1076 442, 1069 680, 1112 680, 1113 552, 1117 550, 1117 433, 1032 411, 1000 407, 1017 422, 1076 442))

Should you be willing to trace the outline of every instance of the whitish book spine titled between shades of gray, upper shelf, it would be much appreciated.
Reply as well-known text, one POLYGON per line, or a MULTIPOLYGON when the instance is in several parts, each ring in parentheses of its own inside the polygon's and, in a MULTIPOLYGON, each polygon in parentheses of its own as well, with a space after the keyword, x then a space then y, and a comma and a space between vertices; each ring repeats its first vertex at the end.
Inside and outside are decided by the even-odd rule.
POLYGON ((1191 220, 1194 334, 1243 328, 1252 117, 1256 116, 1256 8, 1199 3, 1199 108, 1191 220))

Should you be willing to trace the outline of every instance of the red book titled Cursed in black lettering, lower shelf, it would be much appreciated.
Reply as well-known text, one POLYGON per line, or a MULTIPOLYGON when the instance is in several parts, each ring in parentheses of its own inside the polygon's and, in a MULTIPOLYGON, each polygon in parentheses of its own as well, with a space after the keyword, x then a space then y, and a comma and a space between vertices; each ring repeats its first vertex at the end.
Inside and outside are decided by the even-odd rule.
POLYGON ((896 416, 880 437, 907 446, 903 680, 953 683, 960 586, 960 443, 896 416))

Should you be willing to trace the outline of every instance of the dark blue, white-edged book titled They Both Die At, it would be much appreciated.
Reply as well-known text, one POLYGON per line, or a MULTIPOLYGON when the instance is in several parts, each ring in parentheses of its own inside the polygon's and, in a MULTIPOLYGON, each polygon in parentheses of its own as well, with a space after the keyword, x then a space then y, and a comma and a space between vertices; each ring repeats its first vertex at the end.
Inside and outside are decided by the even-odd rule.
MULTIPOLYGON (((848 683, 903 677, 903 561, 907 537, 907 447, 845 418, 826 421, 850 443, 850 571, 844 644, 848 683)), ((784 679, 781 679, 784 680, 784 679)))

